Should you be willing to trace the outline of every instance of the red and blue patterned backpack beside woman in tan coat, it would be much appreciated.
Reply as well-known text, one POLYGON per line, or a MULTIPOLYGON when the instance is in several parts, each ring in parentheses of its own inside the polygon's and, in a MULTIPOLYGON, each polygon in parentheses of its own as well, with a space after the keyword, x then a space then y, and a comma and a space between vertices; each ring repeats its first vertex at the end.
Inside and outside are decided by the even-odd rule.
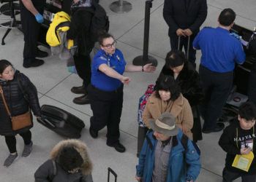
POLYGON ((154 92, 154 84, 149 84, 146 92, 140 97, 139 99, 139 107, 138 107, 138 124, 140 127, 146 127, 143 119, 142 114, 146 107, 146 103, 148 101, 149 96, 154 92))

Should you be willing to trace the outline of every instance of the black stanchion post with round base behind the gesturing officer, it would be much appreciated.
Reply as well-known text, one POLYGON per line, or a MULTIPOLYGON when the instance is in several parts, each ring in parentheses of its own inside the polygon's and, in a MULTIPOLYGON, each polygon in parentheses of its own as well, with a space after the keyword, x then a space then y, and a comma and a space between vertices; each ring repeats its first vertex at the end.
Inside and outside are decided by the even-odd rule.
POLYGON ((157 66, 157 59, 148 55, 148 38, 149 38, 149 23, 150 23, 150 9, 152 1, 148 0, 145 4, 145 24, 144 24, 144 40, 143 40, 143 55, 139 55, 132 61, 135 66, 143 66, 146 63, 152 63, 152 66, 157 66))

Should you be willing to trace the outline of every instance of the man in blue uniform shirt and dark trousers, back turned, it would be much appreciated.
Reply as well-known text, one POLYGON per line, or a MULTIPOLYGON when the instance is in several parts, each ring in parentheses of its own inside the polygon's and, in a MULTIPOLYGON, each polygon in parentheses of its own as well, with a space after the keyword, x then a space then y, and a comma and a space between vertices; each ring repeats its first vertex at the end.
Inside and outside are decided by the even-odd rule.
POLYGON ((205 92, 201 108, 204 133, 219 132, 224 128, 217 119, 233 85, 235 64, 245 60, 241 42, 229 32, 235 19, 233 9, 224 9, 219 15, 219 26, 203 28, 193 41, 193 47, 202 51, 199 74, 205 92))

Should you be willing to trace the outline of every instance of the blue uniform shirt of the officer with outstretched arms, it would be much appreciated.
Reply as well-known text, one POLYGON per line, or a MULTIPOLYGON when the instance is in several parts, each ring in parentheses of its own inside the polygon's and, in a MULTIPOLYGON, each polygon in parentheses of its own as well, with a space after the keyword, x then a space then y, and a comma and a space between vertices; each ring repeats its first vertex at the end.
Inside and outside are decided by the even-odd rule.
POLYGON ((91 64, 91 84, 99 90, 116 90, 121 86, 122 82, 99 71, 101 64, 110 66, 110 68, 113 68, 118 74, 124 74, 127 63, 124 60, 123 54, 117 49, 113 55, 107 55, 104 50, 99 50, 91 64))

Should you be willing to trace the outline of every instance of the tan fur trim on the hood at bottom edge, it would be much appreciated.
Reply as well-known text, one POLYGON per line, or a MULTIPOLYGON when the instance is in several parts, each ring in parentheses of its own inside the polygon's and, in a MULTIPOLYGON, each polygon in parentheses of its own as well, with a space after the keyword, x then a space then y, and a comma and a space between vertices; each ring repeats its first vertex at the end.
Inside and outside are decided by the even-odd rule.
POLYGON ((56 146, 53 147, 52 151, 50 151, 50 159, 56 160, 59 157, 60 151, 67 146, 72 146, 74 149, 78 151, 80 156, 83 158, 83 165, 81 167, 81 171, 83 175, 89 175, 92 171, 92 163, 89 157, 87 146, 85 143, 75 139, 69 139, 65 141, 60 141, 56 146))

